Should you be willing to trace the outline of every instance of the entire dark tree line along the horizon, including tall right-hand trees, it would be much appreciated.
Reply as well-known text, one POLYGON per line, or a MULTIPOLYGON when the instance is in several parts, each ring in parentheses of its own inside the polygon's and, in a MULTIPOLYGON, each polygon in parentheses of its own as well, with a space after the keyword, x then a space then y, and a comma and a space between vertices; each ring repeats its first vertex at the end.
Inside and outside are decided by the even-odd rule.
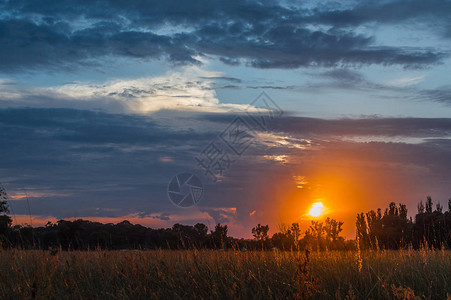
POLYGON ((340 235, 343 222, 326 218, 311 221, 302 229, 299 223, 279 226, 269 236, 269 226, 258 224, 252 228, 254 239, 229 236, 227 225, 194 226, 175 224, 171 228, 152 229, 122 221, 102 224, 87 220, 59 220, 45 226, 14 225, 8 216, 6 191, 0 186, 0 243, 3 248, 23 249, 248 249, 248 250, 346 250, 400 249, 451 246, 451 199, 448 211, 440 204, 433 207, 431 197, 418 204, 415 218, 407 217, 404 204, 390 203, 381 209, 357 214, 356 240, 340 235))

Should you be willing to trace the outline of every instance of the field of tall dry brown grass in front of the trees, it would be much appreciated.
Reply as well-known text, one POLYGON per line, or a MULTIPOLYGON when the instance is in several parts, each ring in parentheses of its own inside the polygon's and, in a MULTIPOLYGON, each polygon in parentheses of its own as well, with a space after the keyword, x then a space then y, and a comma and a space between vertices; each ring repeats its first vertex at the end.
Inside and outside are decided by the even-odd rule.
POLYGON ((451 299, 451 251, 8 250, 1 299, 451 299))

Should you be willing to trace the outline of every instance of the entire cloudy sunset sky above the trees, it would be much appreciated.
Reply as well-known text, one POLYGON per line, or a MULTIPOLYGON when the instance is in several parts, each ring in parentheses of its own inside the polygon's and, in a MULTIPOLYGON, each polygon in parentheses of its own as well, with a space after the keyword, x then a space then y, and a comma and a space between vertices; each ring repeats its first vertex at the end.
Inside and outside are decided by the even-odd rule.
POLYGON ((392 201, 446 208, 450 15, 437 0, 0 0, 13 220, 249 238, 307 229, 322 202, 313 219, 352 238, 357 213, 392 201), (168 194, 182 173, 202 186, 189 207, 168 194))

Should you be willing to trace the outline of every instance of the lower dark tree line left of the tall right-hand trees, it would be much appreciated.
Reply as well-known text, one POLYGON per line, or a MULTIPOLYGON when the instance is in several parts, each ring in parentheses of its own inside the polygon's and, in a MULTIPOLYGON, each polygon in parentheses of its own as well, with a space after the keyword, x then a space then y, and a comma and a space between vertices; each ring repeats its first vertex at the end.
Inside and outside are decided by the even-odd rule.
POLYGON ((8 204, 0 201, 0 243, 3 248, 22 249, 239 249, 295 250, 344 249, 352 242, 339 236, 343 222, 327 218, 312 222, 302 232, 298 223, 281 226, 269 237, 269 226, 258 224, 252 229, 254 239, 229 236, 228 226, 216 224, 212 230, 202 223, 194 226, 174 224, 171 228, 152 229, 122 221, 102 224, 88 220, 59 220, 45 226, 14 225, 7 215, 8 204))

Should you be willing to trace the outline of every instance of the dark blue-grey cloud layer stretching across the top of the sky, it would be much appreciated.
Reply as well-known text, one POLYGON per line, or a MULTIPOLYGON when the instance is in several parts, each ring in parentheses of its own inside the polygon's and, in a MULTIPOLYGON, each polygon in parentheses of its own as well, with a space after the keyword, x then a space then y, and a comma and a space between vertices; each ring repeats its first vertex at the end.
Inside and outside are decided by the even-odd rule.
POLYGON ((197 56, 213 55, 231 65, 282 69, 438 63, 446 53, 379 46, 374 37, 348 27, 391 22, 398 13, 400 19, 409 19, 440 12, 440 19, 449 9, 448 3, 440 1, 412 3, 357 5, 336 11, 256 1, 3 1, 0 68, 4 72, 41 66, 70 68, 101 64, 99 59, 109 55, 164 58, 174 64, 199 64, 197 56), (333 27, 312 29, 322 24, 333 27), (185 30, 168 33, 164 31, 168 26, 185 30))

